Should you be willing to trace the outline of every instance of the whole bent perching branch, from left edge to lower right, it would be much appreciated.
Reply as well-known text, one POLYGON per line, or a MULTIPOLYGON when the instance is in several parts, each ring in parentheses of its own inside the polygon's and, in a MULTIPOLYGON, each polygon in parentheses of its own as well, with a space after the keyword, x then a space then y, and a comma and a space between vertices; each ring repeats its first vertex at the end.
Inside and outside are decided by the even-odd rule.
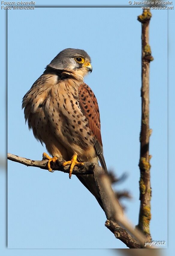
MULTIPOLYGON (((26 166, 32 166, 32 167, 38 167, 44 170, 47 170, 47 161, 48 160, 42 160, 42 161, 35 161, 23 157, 19 157, 17 155, 12 155, 8 153, 8 159, 11 161, 18 162, 20 164, 24 164, 26 166)), ((59 158, 56 162, 56 164, 53 164, 53 170, 59 170, 65 173, 69 173, 69 166, 62 167, 62 163, 64 162, 63 158, 59 158)), ((107 221, 105 223, 105 226, 115 235, 116 238, 121 240, 127 247, 129 248, 143 248, 143 242, 146 242, 146 237, 143 236, 143 234, 138 233, 137 230, 134 231, 133 228, 129 228, 125 226, 125 224, 128 223, 126 219, 121 218, 123 216, 123 210, 122 207, 119 204, 118 199, 116 199, 115 194, 111 188, 111 183, 109 181, 109 178, 107 177, 108 181, 107 183, 104 182, 103 176, 101 174, 104 173, 104 170, 98 165, 94 163, 85 162, 83 167, 74 167, 74 171, 72 174, 75 175, 84 175, 84 174, 93 174, 94 180, 97 186, 97 189, 99 191, 101 201, 104 205, 104 212, 107 217, 107 221), (112 193, 112 199, 108 195, 107 191, 109 191, 109 188, 111 189, 110 193, 112 193), (108 189, 106 191, 106 189, 108 189), (113 203, 111 203, 111 200, 114 200, 113 203), (116 214, 115 204, 117 204, 118 212, 116 214), (114 214, 119 215, 119 218, 117 218, 117 221, 122 223, 122 226, 118 224, 116 221, 116 218, 114 217, 114 214), (128 230, 127 230, 128 229, 128 230), (129 231, 129 232, 128 232, 129 231), (134 233, 136 235, 137 239, 134 239, 130 233, 134 233), (140 236, 144 240, 140 240, 140 236), (137 241, 138 240, 138 241, 137 241), (141 241, 141 243, 140 243, 141 241)), ((135 236, 135 235, 134 235, 135 236)))

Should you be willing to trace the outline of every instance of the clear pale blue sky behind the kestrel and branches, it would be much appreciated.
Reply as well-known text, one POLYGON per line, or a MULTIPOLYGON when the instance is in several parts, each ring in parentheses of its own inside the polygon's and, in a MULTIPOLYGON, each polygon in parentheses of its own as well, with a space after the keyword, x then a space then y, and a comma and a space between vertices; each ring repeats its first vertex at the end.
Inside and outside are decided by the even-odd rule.
MULTIPOLYGON (((107 167, 116 175, 128 173, 117 189, 133 196, 125 205, 134 225, 139 210, 140 13, 140 8, 8 11, 8 151, 42 158, 45 148, 25 126, 22 97, 59 51, 83 48, 92 58, 86 83, 98 99, 107 167)), ((167 242, 167 11, 152 15, 151 233, 154 240, 167 242)), ((8 248, 125 248, 104 222, 95 198, 76 177, 8 163, 8 248)))

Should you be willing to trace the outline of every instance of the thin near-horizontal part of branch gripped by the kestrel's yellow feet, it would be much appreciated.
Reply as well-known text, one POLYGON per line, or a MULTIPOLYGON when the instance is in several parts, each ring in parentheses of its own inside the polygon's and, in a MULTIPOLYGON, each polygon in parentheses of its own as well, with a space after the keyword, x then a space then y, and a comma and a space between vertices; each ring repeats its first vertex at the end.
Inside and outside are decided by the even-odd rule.
MULTIPOLYGON (((26 166, 32 166, 32 167, 38 167, 44 170, 48 170, 47 167, 47 162, 48 160, 42 160, 42 161, 38 161, 38 160, 31 160, 28 158, 24 158, 24 157, 20 157, 17 155, 12 155, 10 153, 8 153, 8 157, 9 160, 20 163, 20 164, 24 164, 26 166)), ((69 165, 62 167, 62 163, 65 160, 63 158, 59 158, 56 163, 53 166, 53 170, 55 171, 61 171, 64 173, 69 173, 69 165)), ((72 174, 75 175, 84 175, 84 174, 92 174, 93 173, 93 168, 94 168, 95 164, 90 163, 90 162, 84 162, 83 167, 74 167, 74 171, 72 174)))

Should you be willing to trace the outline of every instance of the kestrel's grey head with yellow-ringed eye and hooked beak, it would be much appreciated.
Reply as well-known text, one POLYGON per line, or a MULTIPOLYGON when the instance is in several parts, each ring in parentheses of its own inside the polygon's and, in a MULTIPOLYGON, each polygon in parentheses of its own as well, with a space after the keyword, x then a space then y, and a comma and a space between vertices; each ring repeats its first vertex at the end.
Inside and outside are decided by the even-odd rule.
POLYGON ((67 48, 60 52, 50 62, 48 67, 57 70, 72 71, 74 73, 86 75, 89 71, 92 72, 91 58, 84 50, 67 48))

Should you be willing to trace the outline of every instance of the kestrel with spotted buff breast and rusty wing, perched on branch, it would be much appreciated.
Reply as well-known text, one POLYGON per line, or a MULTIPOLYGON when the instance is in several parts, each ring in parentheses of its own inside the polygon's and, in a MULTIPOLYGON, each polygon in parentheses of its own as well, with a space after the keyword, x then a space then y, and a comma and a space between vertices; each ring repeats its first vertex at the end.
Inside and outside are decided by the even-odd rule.
MULTIPOLYGON (((91 58, 81 49, 66 48, 48 64, 43 74, 24 95, 22 108, 29 129, 46 146, 48 170, 62 157, 70 165, 69 178, 75 165, 97 163, 107 173, 101 139, 100 113, 92 89, 84 77, 92 72, 91 58)), ((103 204, 93 174, 77 175, 83 185, 103 204)))

